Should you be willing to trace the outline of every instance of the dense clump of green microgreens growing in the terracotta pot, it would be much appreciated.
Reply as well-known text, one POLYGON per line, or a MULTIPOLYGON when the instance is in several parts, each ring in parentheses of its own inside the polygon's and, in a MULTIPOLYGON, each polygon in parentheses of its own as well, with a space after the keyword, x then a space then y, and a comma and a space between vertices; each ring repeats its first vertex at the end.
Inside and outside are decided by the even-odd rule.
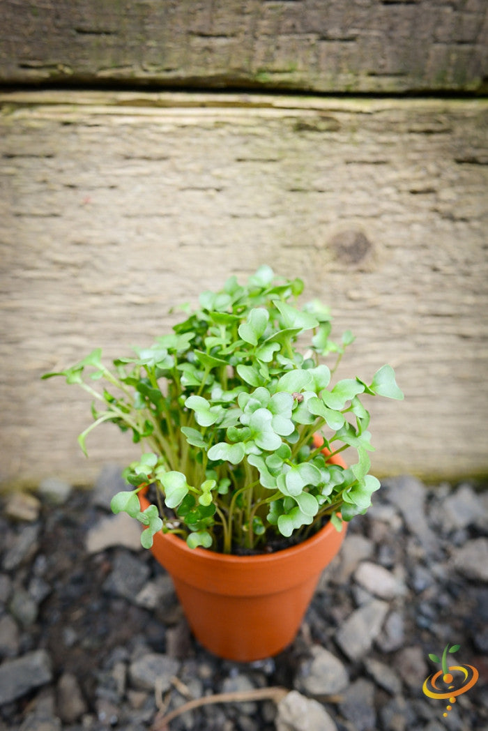
POLYGON ((94 421, 79 437, 84 452, 104 422, 140 442, 140 460, 125 471, 133 489, 118 493, 112 509, 146 526, 146 548, 162 529, 192 548, 266 550, 276 537, 305 539, 327 518, 340 529, 370 506, 379 482, 369 474, 362 397, 403 393, 388 365, 370 382, 331 385, 354 338, 347 331, 332 341, 329 309, 317 300, 299 306, 302 289, 300 279, 277 279, 262 266, 245 285, 231 277, 203 292, 172 333, 110 368, 96 349, 43 376, 64 376, 94 399, 94 421), (348 447, 357 453, 348 469, 322 451, 348 447), (142 511, 137 493, 148 485, 156 504, 142 511))

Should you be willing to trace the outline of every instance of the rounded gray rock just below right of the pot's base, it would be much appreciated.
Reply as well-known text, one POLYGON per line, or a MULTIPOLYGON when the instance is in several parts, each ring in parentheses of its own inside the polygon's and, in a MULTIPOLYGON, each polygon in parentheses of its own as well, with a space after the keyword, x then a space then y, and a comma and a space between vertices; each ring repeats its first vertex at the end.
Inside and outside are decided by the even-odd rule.
POLYGON ((295 676, 295 688, 306 695, 334 695, 348 686, 349 678, 340 659, 323 647, 311 648, 295 676))

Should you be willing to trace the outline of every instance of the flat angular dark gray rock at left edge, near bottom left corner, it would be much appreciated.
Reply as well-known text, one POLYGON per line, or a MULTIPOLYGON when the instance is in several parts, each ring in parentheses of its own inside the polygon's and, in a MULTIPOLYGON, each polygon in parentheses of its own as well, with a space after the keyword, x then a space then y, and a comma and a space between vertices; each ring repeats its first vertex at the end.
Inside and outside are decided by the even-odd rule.
POLYGON ((22 697, 53 679, 50 656, 35 650, 0 665, 0 705, 22 697))

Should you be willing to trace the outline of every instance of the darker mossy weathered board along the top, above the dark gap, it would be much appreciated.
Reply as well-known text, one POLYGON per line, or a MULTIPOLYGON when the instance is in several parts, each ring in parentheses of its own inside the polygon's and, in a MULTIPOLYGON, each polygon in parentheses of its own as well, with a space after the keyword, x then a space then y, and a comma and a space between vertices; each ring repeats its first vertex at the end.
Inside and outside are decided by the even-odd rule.
POLYGON ((486 0, 2 0, 0 83, 486 91, 486 0))

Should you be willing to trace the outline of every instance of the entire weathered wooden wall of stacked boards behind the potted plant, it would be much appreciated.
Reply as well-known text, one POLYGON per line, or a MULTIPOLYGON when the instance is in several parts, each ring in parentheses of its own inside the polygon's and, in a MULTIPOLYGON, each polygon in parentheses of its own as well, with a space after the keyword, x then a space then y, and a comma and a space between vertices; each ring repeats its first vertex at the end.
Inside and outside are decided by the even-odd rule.
POLYGON ((263 262, 354 330, 344 376, 397 370, 405 401, 372 402, 377 474, 486 474, 486 15, 4 0, 1 484, 89 482, 130 459, 107 425, 86 461, 88 401, 39 376, 149 344, 173 304, 263 262), (283 86, 296 93, 264 93, 283 86), (427 88, 463 96, 378 96, 427 88))

